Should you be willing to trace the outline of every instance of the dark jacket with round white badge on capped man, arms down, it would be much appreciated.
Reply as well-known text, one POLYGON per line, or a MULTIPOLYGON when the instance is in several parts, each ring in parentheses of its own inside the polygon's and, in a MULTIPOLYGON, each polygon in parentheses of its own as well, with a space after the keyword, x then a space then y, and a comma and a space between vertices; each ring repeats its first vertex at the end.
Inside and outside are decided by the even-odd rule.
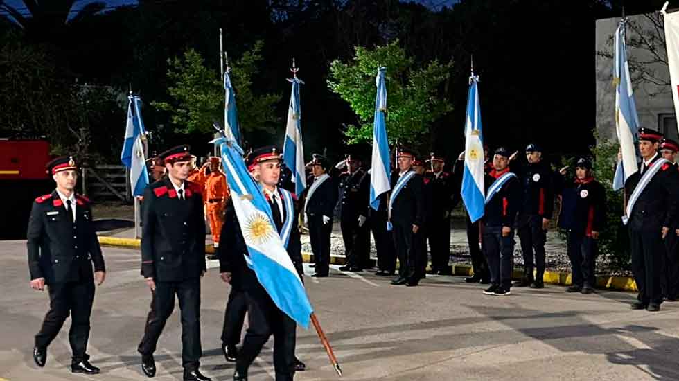
POLYGON ((522 169, 523 200, 520 213, 551 219, 554 211, 552 168, 545 161, 540 161, 522 169))

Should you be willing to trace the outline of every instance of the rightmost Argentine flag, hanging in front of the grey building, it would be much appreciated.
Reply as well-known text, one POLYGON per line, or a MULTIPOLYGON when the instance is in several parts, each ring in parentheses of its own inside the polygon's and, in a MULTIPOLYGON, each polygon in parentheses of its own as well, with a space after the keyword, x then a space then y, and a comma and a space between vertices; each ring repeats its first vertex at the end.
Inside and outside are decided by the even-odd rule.
POLYGON ((613 189, 624 188, 625 181, 639 170, 637 166, 637 130, 639 118, 634 102, 630 69, 627 64, 625 45, 625 20, 620 21, 615 30, 615 54, 613 57, 613 85, 615 86, 615 131, 622 151, 622 161, 615 168, 613 189))

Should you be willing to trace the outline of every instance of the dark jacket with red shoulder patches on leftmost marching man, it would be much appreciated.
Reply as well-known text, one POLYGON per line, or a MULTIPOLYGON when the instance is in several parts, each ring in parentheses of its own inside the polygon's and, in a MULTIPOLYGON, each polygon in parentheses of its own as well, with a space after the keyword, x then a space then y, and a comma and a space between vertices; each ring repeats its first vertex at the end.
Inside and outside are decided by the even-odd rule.
POLYGON ((45 278, 46 284, 92 280, 93 263, 94 271, 106 271, 89 200, 75 198, 75 224, 56 190, 35 199, 27 234, 31 279, 45 278))

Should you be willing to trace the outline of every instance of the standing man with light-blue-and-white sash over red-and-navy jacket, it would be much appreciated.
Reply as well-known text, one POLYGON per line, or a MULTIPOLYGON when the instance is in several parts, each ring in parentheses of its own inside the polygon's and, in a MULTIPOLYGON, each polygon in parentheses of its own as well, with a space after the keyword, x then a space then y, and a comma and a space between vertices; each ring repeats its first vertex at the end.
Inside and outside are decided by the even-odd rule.
POLYGON ((481 220, 484 251, 491 272, 491 285, 486 295, 510 294, 514 265, 514 221, 520 208, 521 186, 509 171, 509 151, 497 148, 493 156, 493 170, 484 181, 486 208, 481 220))

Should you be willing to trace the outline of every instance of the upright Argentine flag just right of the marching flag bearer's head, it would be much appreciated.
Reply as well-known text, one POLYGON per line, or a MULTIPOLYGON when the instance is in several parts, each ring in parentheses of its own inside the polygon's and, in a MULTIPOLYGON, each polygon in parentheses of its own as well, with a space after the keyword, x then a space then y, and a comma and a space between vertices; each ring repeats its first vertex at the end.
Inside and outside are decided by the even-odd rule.
POLYGON ((290 107, 288 108, 288 125, 285 127, 285 143, 283 143, 283 162, 292 170, 294 193, 299 197, 306 189, 306 173, 304 172, 304 146, 302 143, 301 107, 299 103, 299 84, 304 83, 297 76, 289 79, 292 82, 290 107))

